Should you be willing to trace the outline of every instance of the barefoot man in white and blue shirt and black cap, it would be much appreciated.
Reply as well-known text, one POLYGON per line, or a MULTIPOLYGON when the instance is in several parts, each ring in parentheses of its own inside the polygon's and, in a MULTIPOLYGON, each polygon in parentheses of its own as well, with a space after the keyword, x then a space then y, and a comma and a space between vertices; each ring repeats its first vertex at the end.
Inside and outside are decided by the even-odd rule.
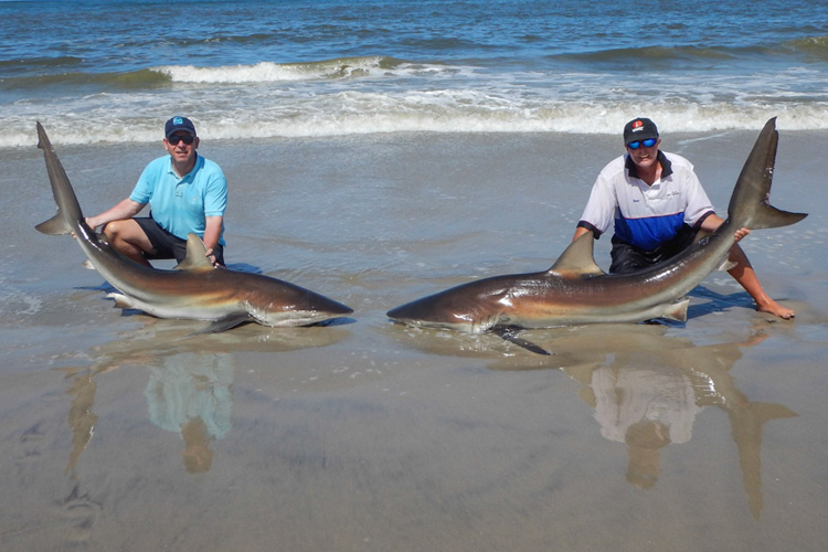
MULTIPOLYGON (((656 124, 633 119, 624 127, 627 153, 611 161, 598 174, 573 240, 592 232, 601 237, 609 225, 611 273, 629 273, 666 261, 688 247, 699 230, 713 232, 724 221, 710 203, 693 166, 681 156, 659 149, 656 124)), ((736 232, 736 242, 750 230, 736 232)), ((762 289, 747 256, 736 243, 728 270, 756 301, 756 308, 781 318, 794 311, 762 289)))

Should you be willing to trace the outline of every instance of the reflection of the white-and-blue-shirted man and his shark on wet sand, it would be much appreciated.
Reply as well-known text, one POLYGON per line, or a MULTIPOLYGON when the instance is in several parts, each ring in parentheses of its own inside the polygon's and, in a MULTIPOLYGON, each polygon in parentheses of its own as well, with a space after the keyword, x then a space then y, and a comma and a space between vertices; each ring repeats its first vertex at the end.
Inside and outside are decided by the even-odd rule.
POLYGON ((683 337, 668 337, 661 325, 595 325, 522 335, 554 351, 551 357, 523 351, 492 335, 416 329, 404 335, 407 342, 429 353, 500 354, 489 364, 492 370, 562 370, 583 385, 578 396, 594 410, 601 434, 627 446, 627 480, 641 489, 657 482, 661 449, 689 442, 702 410, 721 408, 728 414, 739 450, 751 513, 758 518, 763 507, 762 427, 771 420, 797 414, 781 404, 751 402, 729 371, 742 358, 743 348, 767 338, 762 329, 767 327, 760 322, 750 329, 752 337, 745 342, 704 347, 683 337))

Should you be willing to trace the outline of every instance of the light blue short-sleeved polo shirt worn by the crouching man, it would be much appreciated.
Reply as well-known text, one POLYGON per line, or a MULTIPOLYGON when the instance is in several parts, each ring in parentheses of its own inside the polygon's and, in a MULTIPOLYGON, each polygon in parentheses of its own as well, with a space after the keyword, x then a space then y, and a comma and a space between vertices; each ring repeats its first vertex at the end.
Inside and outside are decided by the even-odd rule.
MULTIPOLYGON (((129 199, 149 203, 152 219, 167 232, 187 240, 193 232, 204 237, 206 216, 224 216, 227 208, 227 180, 221 168, 201 156, 183 178, 172 169, 172 157, 150 161, 129 199)), ((224 244, 224 225, 219 237, 224 244)))

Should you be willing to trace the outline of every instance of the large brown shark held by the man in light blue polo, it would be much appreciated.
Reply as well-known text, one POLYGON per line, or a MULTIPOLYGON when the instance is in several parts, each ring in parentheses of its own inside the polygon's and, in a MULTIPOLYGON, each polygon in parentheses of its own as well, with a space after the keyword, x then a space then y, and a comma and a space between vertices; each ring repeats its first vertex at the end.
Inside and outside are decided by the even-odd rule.
POLYGON ((353 312, 352 309, 294 284, 267 276, 214 268, 204 244, 190 234, 187 258, 173 270, 140 266, 99 240, 86 224, 81 205, 43 126, 38 123, 57 214, 39 224, 44 234, 74 233, 93 266, 119 294, 116 306, 159 318, 210 320, 204 332, 255 321, 263 326, 309 326, 353 312))

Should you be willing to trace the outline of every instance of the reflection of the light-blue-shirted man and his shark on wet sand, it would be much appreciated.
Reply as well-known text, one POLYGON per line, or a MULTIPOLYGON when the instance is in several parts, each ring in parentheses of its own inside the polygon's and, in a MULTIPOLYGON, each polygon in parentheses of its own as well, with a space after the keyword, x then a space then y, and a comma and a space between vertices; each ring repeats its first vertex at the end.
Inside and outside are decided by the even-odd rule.
POLYGON ((348 336, 341 327, 279 328, 241 327, 233 332, 190 336, 191 325, 178 320, 147 318, 140 330, 89 351, 88 368, 63 369, 72 381, 68 425, 73 448, 66 473, 74 473, 94 435, 98 416, 93 412, 96 378, 121 367, 150 370, 145 390, 150 421, 179 433, 184 442, 182 459, 190 474, 212 466, 210 443, 231 428, 232 351, 288 351, 326 347, 348 336))

